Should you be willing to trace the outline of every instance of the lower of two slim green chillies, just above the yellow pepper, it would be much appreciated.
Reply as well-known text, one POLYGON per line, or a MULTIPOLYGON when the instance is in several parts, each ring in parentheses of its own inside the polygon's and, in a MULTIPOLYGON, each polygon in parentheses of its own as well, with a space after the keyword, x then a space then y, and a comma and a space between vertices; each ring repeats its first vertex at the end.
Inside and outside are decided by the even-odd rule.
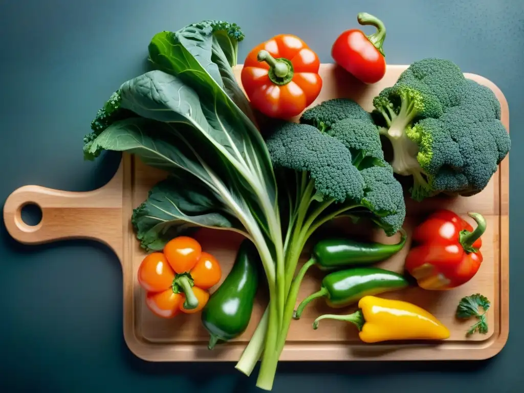
POLYGON ((293 313, 299 319, 304 307, 314 299, 325 298, 332 308, 342 308, 364 296, 399 290, 409 286, 402 275, 376 267, 335 271, 324 277, 320 290, 305 298, 293 313))

